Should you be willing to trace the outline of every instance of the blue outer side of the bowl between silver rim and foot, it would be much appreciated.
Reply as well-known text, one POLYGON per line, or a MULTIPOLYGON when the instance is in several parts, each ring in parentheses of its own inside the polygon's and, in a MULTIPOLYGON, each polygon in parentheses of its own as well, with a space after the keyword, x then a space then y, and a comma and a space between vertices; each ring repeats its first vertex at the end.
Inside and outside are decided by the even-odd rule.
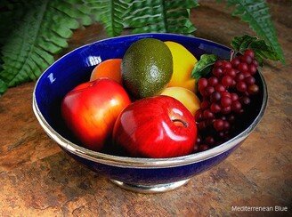
MULTIPOLYGON (((192 176, 205 172, 215 165, 221 163, 227 158, 234 149, 239 147, 240 143, 232 149, 224 152, 216 157, 209 158, 196 164, 174 166, 168 168, 125 168, 112 165, 104 165, 78 157, 67 152, 69 156, 78 162, 86 165, 96 173, 103 174, 111 180, 126 182, 133 185, 157 185, 170 183, 174 181, 182 181, 190 179, 192 176)), ((66 151, 66 150, 65 150, 66 151)))

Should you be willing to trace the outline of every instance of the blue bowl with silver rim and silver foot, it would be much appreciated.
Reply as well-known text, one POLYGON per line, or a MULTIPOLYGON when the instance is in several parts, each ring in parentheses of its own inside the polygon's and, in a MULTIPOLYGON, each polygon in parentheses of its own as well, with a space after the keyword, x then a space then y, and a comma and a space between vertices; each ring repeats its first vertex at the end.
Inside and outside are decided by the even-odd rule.
POLYGON ((197 59, 203 53, 215 53, 222 58, 228 58, 230 55, 230 48, 222 44, 174 34, 119 36, 86 44, 54 62, 39 77, 33 93, 33 109, 45 133, 81 164, 104 174, 110 181, 125 189, 161 192, 183 185, 192 176, 218 165, 238 148, 264 115, 267 89, 264 77, 258 73, 256 79, 260 94, 253 104, 253 109, 250 109, 252 111, 245 118, 245 125, 240 127, 238 134, 230 141, 213 149, 183 157, 156 159, 118 157, 83 148, 74 141, 61 119, 61 99, 77 84, 89 80, 91 71, 98 63, 111 58, 123 58, 131 44, 145 37, 183 44, 197 59))

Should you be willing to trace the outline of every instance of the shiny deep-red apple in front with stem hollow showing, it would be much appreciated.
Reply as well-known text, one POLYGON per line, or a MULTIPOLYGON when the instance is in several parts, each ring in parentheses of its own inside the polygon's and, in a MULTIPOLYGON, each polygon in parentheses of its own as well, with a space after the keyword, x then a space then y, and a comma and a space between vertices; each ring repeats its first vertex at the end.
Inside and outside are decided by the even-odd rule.
POLYGON ((185 156, 193 151, 196 139, 191 112, 169 96, 130 104, 119 115, 113 132, 115 144, 131 157, 185 156))

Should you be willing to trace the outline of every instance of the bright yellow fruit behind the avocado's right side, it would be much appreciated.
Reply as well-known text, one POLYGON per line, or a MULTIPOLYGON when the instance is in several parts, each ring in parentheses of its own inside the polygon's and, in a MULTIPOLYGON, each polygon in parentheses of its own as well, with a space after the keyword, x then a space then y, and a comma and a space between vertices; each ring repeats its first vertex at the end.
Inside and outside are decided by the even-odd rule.
POLYGON ((174 72, 167 86, 181 86, 195 92, 196 80, 191 78, 191 71, 198 61, 182 44, 166 41, 173 56, 174 72))

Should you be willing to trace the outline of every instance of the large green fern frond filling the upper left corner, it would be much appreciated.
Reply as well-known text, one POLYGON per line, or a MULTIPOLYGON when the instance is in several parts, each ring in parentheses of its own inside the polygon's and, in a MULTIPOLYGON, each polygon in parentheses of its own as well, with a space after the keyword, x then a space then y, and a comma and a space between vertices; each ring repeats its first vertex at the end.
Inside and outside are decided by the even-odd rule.
POLYGON ((36 80, 53 63, 53 54, 68 46, 72 29, 80 26, 77 20, 81 25, 92 23, 82 4, 81 0, 19 1, 13 4, 12 11, 6 13, 7 18, 18 12, 20 15, 16 19, 22 19, 16 20, 11 35, 0 41, 4 44, 0 92, 7 86, 36 80))

